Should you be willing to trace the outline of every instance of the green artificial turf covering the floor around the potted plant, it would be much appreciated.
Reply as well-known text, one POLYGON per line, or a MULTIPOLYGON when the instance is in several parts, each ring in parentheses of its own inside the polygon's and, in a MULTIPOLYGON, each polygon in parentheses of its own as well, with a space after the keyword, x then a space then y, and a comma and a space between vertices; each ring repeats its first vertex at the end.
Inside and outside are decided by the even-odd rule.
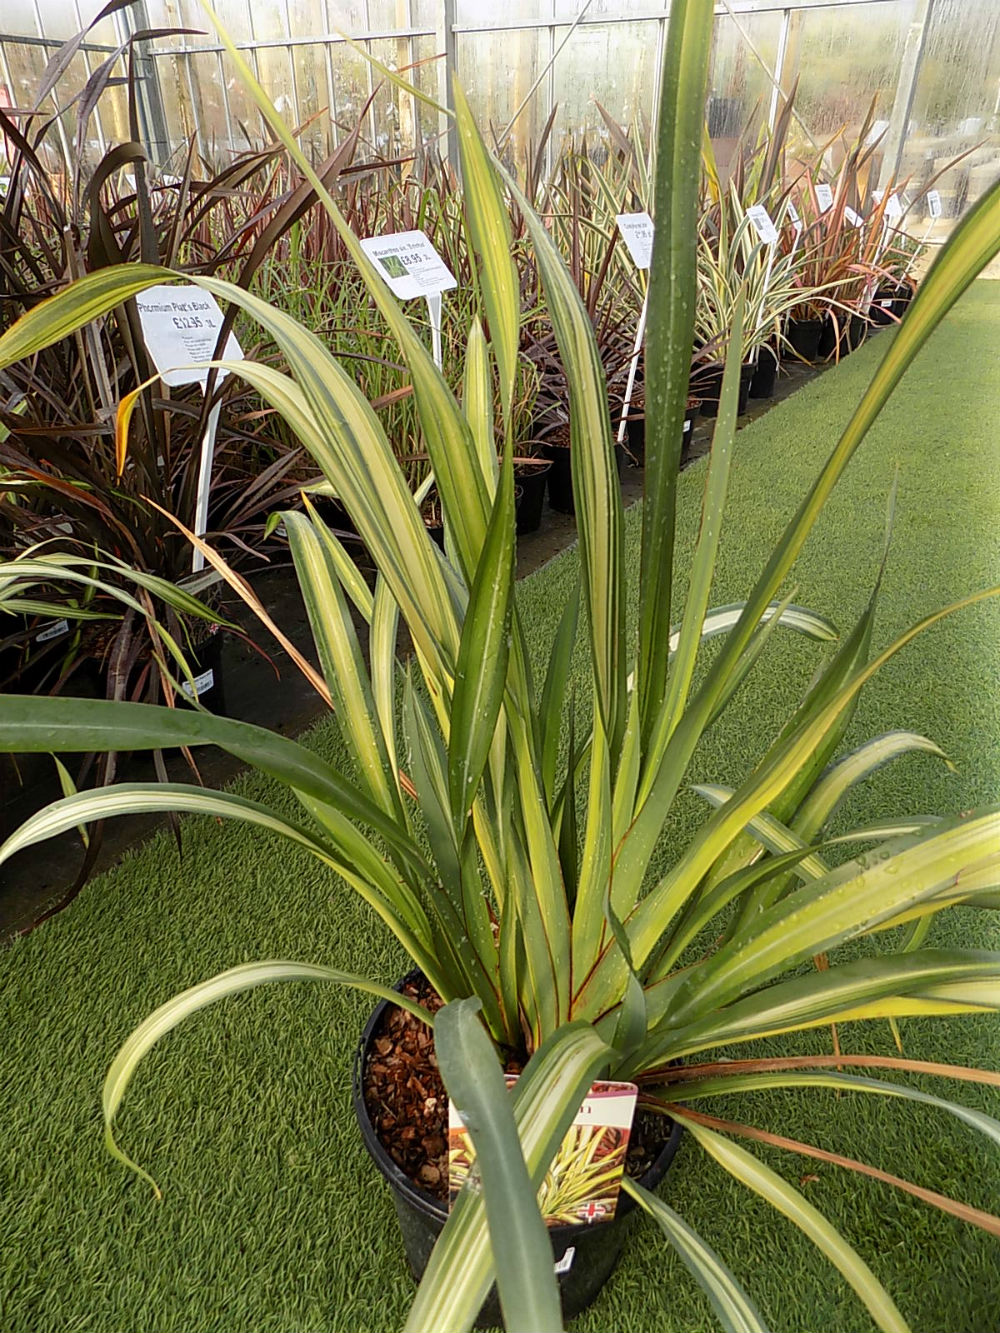
MULTIPOLYGON (((947 600, 1000 583, 1000 283, 979 283, 924 349, 835 492, 799 563, 797 599, 847 628, 883 543, 900 467, 896 532, 877 643, 947 600)), ((743 431, 715 601, 739 599, 845 421, 889 333, 743 431)), ((680 481, 691 548, 704 464, 680 481)), ((637 544, 629 515, 629 551, 637 544)), ((635 571, 636 560, 629 559, 635 571)), ((520 588, 533 645, 553 632, 576 575, 567 553, 520 588)), ((635 595, 635 589, 633 589, 635 595)), ((845 822, 965 809, 1000 789, 1000 605, 928 632, 868 688, 851 742, 907 726, 957 766, 911 757, 856 793, 845 822)), ((800 697, 815 645, 784 635, 697 756, 696 773, 739 778, 800 697)), ((317 748, 336 750, 328 728, 317 748)), ((272 784, 239 788, 281 805, 272 784)), ((704 812, 681 802, 668 845, 704 812)), ((939 941, 997 948, 988 913, 955 913, 939 941)), ((188 820, 184 853, 161 836, 92 882, 71 909, 0 957, 0 1329, 4 1333, 388 1333, 412 1294, 385 1186, 349 1104, 349 1062, 369 1001, 315 985, 228 1001, 151 1054, 120 1138, 163 1186, 104 1150, 100 1086, 121 1040, 157 1004, 233 964, 335 962, 383 981, 400 949, 371 912, 284 842, 188 820)), ((1000 1062, 996 1020, 903 1024, 908 1054, 1000 1062)), ((828 1032, 805 1045, 828 1049, 828 1032)), ((885 1025, 845 1030, 847 1049, 892 1053, 885 1025)), ((941 1089, 941 1090, 951 1090, 941 1089)), ((972 1085, 968 1105, 1000 1113, 972 1085)), ((716 1104, 780 1133, 853 1153, 980 1208, 996 1208, 1000 1156, 944 1114, 816 1093, 716 1104)), ((1000 1244, 888 1186, 761 1150, 857 1245, 919 1333, 1000 1328, 1000 1244)), ((688 1140, 663 1194, 745 1282, 775 1330, 871 1329, 839 1274, 688 1140)), ((575 1325, 628 1333, 712 1328, 707 1302, 647 1222, 599 1302, 575 1325)))

